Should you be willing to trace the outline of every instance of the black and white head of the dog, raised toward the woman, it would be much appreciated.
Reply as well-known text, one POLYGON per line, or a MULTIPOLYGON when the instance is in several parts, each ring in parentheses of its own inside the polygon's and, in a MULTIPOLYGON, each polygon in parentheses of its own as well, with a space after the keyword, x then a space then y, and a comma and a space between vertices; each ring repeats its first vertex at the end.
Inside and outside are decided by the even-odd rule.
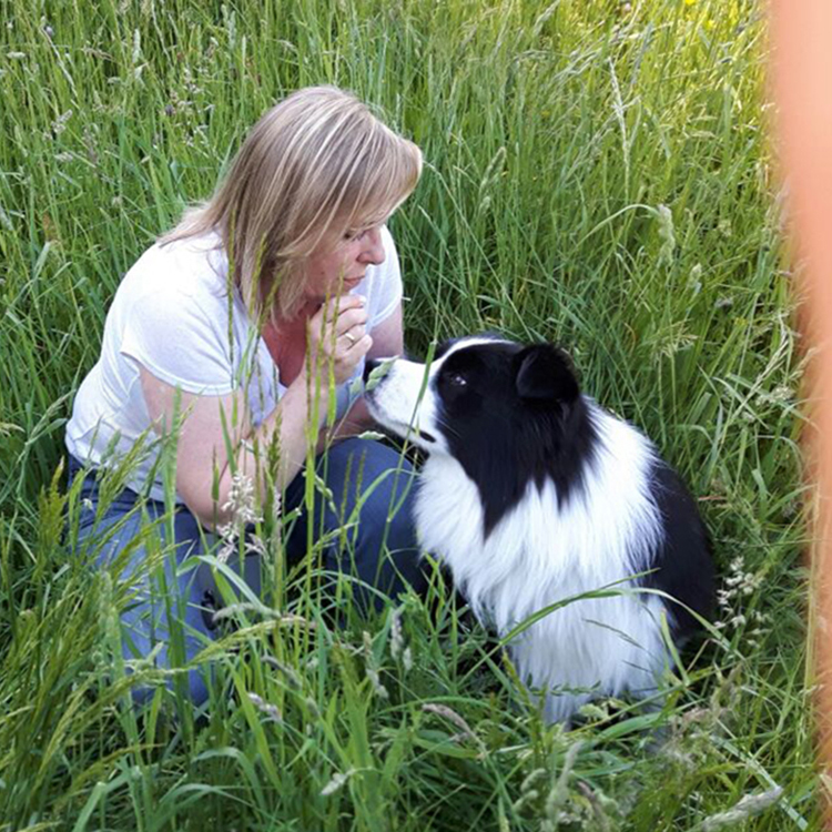
POLYGON ((378 364, 365 371, 371 413, 463 467, 479 491, 486 534, 530 483, 551 481, 561 505, 582 488, 596 427, 558 347, 466 337, 443 344, 429 365, 397 358, 372 377, 378 364))

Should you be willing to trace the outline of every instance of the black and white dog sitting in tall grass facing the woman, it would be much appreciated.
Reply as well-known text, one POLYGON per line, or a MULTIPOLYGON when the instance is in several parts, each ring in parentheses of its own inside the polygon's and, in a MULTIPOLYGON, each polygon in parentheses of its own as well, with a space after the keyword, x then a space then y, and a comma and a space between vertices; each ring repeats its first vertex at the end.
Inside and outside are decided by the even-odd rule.
POLYGON ((559 600, 625 589, 557 608, 509 646, 524 681, 547 691, 546 717, 655 692, 671 663, 662 616, 677 643, 691 635, 686 607, 709 612, 713 568, 696 503, 653 445, 581 394, 549 344, 461 338, 429 367, 395 359, 368 387, 378 423, 429 454, 420 541, 480 621, 505 636, 559 600))

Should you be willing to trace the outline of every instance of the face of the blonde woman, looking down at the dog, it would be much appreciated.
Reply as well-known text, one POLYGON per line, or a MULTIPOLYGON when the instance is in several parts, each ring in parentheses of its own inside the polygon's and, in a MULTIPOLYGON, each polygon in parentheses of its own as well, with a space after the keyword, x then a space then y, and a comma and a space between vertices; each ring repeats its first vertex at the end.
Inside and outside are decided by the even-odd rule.
POLYGON ((323 246, 306 261, 306 302, 318 306, 327 297, 354 290, 367 266, 384 263, 382 226, 374 225, 345 236, 333 250, 323 246))

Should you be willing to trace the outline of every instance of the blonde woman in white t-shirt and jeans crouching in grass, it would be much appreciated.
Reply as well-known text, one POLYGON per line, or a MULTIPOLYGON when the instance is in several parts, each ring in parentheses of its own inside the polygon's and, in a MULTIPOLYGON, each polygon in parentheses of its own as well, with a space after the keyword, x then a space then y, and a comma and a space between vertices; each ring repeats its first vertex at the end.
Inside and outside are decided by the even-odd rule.
MULTIPOLYGON (((164 513, 171 437, 177 510, 158 526, 179 564, 204 550, 204 529, 239 525, 241 490, 253 489, 255 510, 274 489, 284 510, 302 507, 302 468, 317 437, 318 450, 331 446, 321 471, 337 505, 318 500, 313 534, 361 511, 351 545, 327 546, 324 566, 351 571, 362 603, 407 584, 424 588, 409 466, 379 443, 348 438, 371 424, 354 400, 365 359, 403 351, 402 280, 384 223, 420 170, 416 145, 353 95, 300 90, 257 122, 214 196, 128 272, 67 427, 71 474, 84 471, 79 539, 100 541, 100 561, 121 557, 124 574, 141 574, 148 517, 164 513), (126 488, 97 517, 98 474, 120 466, 126 488), (133 510, 138 495, 148 498, 145 518, 133 510)), ((284 541, 290 559, 306 552, 311 521, 302 513, 284 541)), ((171 598, 144 581, 122 616, 125 658, 152 653, 166 667, 211 637, 195 570, 174 576, 169 566, 165 581, 169 596, 179 586, 184 641, 169 628, 171 598)), ((189 680, 192 699, 204 701, 203 676, 189 680)))

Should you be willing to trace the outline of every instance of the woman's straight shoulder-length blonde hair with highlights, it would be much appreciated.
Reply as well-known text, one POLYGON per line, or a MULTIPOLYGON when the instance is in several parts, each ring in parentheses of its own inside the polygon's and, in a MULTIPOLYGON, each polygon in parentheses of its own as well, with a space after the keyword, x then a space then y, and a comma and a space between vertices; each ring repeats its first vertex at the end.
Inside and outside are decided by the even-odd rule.
POLYGON ((251 314, 296 314, 318 246, 383 223, 409 196, 422 152, 352 93, 308 87, 252 128, 214 195, 161 244, 216 231, 251 314))

